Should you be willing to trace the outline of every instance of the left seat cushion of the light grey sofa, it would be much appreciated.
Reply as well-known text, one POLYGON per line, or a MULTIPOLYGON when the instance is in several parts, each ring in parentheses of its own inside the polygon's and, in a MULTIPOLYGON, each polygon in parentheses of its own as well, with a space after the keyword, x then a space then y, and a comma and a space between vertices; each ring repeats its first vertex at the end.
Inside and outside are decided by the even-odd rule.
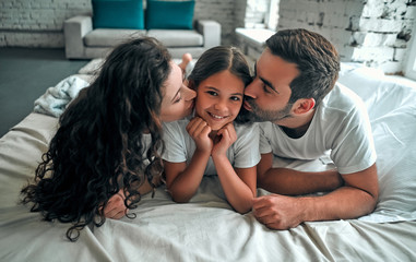
POLYGON ((84 37, 85 46, 109 47, 116 46, 128 39, 144 36, 146 31, 140 29, 112 29, 112 28, 97 28, 84 37))

